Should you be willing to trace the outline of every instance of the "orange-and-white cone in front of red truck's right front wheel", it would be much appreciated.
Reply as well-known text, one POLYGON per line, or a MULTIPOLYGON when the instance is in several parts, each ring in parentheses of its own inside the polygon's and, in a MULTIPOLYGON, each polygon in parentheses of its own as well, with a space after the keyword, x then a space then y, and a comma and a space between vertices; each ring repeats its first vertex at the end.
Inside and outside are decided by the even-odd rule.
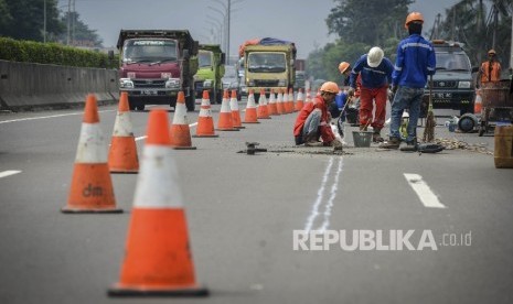
POLYGON ((171 124, 171 146, 177 150, 196 149, 191 141, 191 129, 189 128, 183 91, 178 93, 177 106, 174 107, 173 123, 171 124))

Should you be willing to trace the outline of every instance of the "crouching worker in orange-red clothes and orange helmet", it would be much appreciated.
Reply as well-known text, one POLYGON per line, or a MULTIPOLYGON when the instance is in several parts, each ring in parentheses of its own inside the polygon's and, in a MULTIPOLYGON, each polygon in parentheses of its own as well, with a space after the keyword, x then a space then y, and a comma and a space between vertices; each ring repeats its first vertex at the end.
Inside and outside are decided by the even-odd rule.
POLYGON ((299 112, 293 126, 296 144, 304 143, 306 146, 334 146, 342 149, 342 143, 335 139, 330 127, 331 115, 328 108, 339 93, 335 83, 327 82, 321 86, 321 95, 308 102, 299 112), (319 141, 322 138, 322 142, 319 141))

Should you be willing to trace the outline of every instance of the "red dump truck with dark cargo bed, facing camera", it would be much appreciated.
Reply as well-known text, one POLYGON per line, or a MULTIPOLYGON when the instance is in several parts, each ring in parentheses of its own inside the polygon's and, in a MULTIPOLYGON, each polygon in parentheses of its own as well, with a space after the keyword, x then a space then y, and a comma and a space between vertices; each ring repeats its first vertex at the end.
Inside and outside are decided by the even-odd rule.
POLYGON ((188 110, 194 110, 199 43, 188 30, 121 30, 117 47, 119 90, 128 93, 131 110, 146 105, 175 107, 180 90, 188 110))

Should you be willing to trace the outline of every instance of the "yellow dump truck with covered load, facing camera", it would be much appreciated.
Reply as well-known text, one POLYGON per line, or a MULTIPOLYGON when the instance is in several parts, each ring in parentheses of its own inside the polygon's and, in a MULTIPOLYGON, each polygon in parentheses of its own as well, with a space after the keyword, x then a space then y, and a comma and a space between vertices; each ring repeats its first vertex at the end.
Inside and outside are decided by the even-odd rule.
MULTIPOLYGON (((254 42, 254 41, 253 41, 254 42)), ((258 100, 260 89, 289 89, 296 79, 296 46, 291 42, 261 39, 257 43, 245 43, 239 47, 244 56, 247 89, 255 91, 258 100)))

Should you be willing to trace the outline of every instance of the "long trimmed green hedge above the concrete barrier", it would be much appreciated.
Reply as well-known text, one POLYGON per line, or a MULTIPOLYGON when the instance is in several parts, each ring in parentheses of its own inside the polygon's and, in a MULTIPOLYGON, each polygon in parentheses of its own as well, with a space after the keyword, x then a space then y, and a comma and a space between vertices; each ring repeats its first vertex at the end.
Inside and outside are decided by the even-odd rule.
POLYGON ((117 67, 118 59, 109 62, 107 54, 64 46, 0 37, 0 59, 78 67, 117 67))

